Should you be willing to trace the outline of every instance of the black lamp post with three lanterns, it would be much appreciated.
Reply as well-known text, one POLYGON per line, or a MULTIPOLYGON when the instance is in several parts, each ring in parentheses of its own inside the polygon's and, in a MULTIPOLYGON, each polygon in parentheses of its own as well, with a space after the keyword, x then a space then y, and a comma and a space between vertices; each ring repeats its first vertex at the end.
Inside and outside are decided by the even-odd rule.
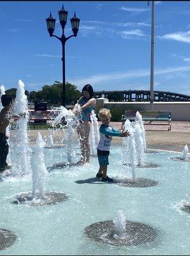
POLYGON ((52 17, 52 13, 50 12, 50 17, 48 17, 46 19, 47 22, 47 29, 48 29, 48 33, 50 34, 50 36, 54 36, 57 39, 59 39, 61 41, 62 44, 62 95, 61 95, 61 105, 65 106, 66 102, 65 102, 65 43, 66 41, 71 38, 72 36, 77 36, 78 33, 78 28, 79 28, 79 22, 80 19, 77 18, 76 14, 74 15, 74 17, 71 20, 71 27, 73 30, 73 35, 66 37, 64 35, 64 27, 66 25, 67 22, 67 17, 68 17, 68 12, 66 10, 64 10, 63 5, 62 5, 62 9, 58 12, 59 13, 59 21, 62 27, 62 36, 55 36, 53 35, 54 33, 54 29, 55 29, 55 19, 52 17))

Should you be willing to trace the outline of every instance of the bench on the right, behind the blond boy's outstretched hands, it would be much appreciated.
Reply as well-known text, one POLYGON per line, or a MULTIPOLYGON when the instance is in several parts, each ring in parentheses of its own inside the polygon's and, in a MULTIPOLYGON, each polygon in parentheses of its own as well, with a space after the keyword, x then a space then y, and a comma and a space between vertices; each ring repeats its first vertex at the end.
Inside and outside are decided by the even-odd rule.
MULTIPOLYGON (((168 125, 168 131, 171 131, 172 111, 139 111, 139 113, 142 115, 144 125, 168 125), (166 121, 166 123, 156 123, 154 121, 166 121)), ((121 129, 124 128, 126 119, 135 121, 136 111, 125 111, 121 118, 121 129)))

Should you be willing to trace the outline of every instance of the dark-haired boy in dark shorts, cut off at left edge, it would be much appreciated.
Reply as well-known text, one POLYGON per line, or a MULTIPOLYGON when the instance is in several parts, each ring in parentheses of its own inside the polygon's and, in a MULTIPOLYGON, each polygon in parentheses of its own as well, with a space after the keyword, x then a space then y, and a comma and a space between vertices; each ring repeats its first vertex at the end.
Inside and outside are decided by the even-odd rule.
POLYGON ((8 155, 8 136, 6 134, 6 127, 10 124, 10 120, 8 119, 8 113, 11 108, 11 104, 13 103, 13 97, 11 95, 2 95, 1 103, 3 105, 3 109, 0 112, 0 173, 4 172, 6 168, 8 168, 8 164, 6 163, 6 157, 8 155))

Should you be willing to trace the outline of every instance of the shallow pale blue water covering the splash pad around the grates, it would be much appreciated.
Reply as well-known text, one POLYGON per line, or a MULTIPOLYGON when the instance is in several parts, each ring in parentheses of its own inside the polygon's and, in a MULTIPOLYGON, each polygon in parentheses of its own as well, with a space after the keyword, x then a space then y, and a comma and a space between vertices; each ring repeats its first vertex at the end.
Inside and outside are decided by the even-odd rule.
MULTIPOLYGON (((45 148, 44 152, 47 167, 67 159, 66 148, 45 148)), ((146 154, 145 161, 159 163, 157 168, 136 168, 137 178, 158 182, 148 188, 94 182, 99 168, 97 157, 91 157, 86 166, 52 170, 45 180, 46 191, 66 193, 69 200, 48 206, 11 204, 17 193, 32 191, 32 179, 30 176, 4 179, 0 184, 0 228, 15 232, 18 240, 0 251, 0 255, 188 255, 189 214, 180 210, 180 204, 189 200, 190 163, 170 159, 178 155, 146 154), (154 228, 156 239, 149 244, 118 247, 85 237, 85 227, 113 220, 119 209, 126 221, 154 228)), ((74 161, 78 159, 77 155, 74 161)), ((121 147, 112 147, 110 177, 132 177, 131 169, 123 166, 121 159, 121 147)))

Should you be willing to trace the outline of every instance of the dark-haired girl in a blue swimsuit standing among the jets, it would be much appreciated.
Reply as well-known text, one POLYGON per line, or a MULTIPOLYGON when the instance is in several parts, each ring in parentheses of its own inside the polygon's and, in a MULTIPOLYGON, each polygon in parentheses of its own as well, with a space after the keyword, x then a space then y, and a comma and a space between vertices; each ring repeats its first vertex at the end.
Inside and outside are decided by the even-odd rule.
POLYGON ((81 159, 77 164, 89 163, 91 148, 89 145, 89 134, 91 130, 91 112, 96 105, 96 99, 93 97, 93 88, 91 84, 86 84, 82 88, 82 97, 73 108, 73 113, 78 117, 77 133, 80 139, 81 159))

